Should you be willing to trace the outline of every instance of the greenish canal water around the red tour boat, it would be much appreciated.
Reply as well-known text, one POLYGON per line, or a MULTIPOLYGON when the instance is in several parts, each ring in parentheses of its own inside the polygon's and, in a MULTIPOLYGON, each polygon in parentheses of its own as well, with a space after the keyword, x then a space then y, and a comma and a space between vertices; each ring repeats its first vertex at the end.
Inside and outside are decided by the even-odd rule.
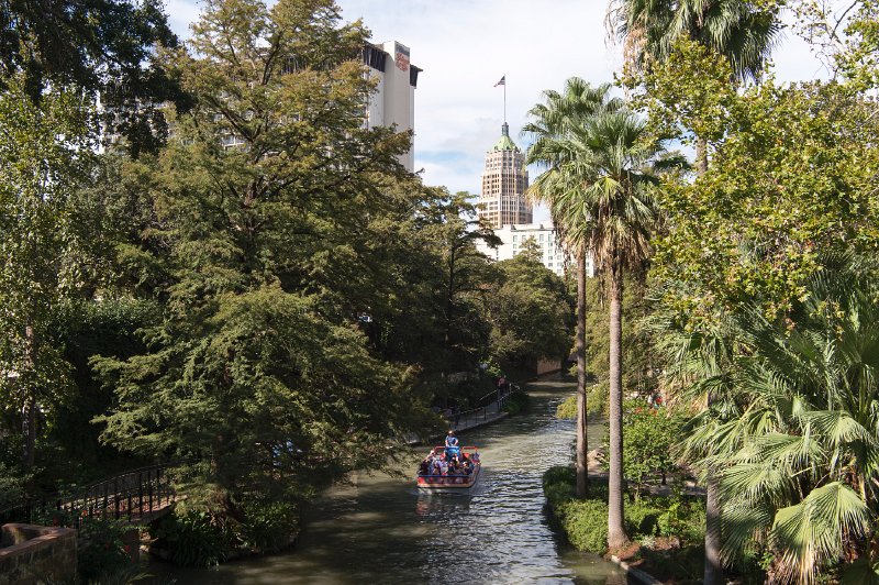
MULTIPOLYGON (((482 455, 469 495, 420 494, 408 477, 358 473, 329 490, 287 553, 181 570, 154 561, 151 572, 187 584, 576 583, 624 585, 598 556, 564 542, 543 511, 543 472, 571 456, 572 421, 555 418, 572 391, 565 383, 528 385, 531 408, 461 435, 482 455)), ((602 429, 590 427, 590 445, 602 429)), ((418 454, 425 451, 420 449, 418 454)), ((413 455, 413 461, 415 455, 413 455)))

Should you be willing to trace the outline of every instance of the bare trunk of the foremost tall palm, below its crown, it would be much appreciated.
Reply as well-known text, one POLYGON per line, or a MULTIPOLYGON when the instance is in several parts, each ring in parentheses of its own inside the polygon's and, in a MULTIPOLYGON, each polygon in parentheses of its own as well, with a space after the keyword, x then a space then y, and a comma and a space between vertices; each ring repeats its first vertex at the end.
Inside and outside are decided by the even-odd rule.
POLYGON ((628 538, 623 526, 623 274, 614 254, 610 269, 610 477, 608 478, 608 548, 628 538))

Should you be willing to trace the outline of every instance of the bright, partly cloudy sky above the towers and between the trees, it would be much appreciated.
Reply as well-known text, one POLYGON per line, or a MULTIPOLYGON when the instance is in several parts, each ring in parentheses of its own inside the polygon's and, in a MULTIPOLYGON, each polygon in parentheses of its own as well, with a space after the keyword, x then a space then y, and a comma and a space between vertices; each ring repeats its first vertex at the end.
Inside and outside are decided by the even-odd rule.
MULTIPOLYGON (((427 185, 478 194, 486 152, 507 121, 520 146, 527 111, 546 89, 572 76, 613 80, 622 47, 608 38, 607 0, 337 0, 343 20, 361 19, 372 41, 399 41, 422 68, 415 90, 415 170, 427 185)), ((171 27, 189 36, 196 0, 169 0, 171 27)), ((778 78, 795 81, 827 73, 791 30, 774 53, 778 78)), ((533 180, 537 169, 530 169, 533 180)), ((546 219, 535 211, 535 221, 546 219)))

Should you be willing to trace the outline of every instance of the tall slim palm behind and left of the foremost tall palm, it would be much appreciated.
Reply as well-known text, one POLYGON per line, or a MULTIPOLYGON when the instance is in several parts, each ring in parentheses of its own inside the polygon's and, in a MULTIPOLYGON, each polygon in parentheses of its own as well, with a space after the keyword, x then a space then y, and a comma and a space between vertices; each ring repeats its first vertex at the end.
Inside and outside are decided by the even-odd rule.
POLYGON ((528 189, 532 199, 549 207, 556 227, 556 233, 565 247, 574 252, 577 260, 577 446, 576 477, 577 496, 586 497, 588 492, 588 441, 587 441, 587 405, 586 405, 586 256, 588 254, 587 234, 591 222, 587 214, 580 214, 578 222, 570 225, 559 221, 564 214, 558 198, 565 191, 582 186, 580 177, 569 176, 563 172, 567 161, 566 154, 559 150, 561 142, 571 134, 571 129, 580 126, 587 119, 599 111, 614 111, 622 107, 622 101, 610 97, 610 84, 592 87, 578 77, 571 77, 565 84, 563 93, 544 91, 545 103, 534 106, 528 115, 532 121, 523 129, 535 141, 527 150, 527 163, 546 168, 528 189))

